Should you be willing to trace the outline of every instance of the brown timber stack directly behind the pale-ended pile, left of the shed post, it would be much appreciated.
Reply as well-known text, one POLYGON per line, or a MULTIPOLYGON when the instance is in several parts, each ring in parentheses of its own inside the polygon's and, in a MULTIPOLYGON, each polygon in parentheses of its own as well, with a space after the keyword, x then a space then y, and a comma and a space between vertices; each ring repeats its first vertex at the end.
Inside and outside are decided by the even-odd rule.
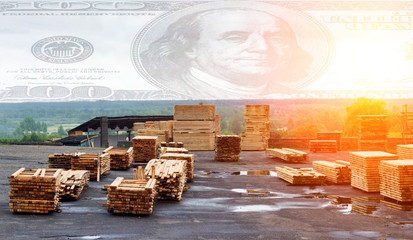
POLYGON ((101 175, 109 174, 109 154, 75 153, 72 158, 72 170, 88 170, 91 179, 99 179, 101 175))

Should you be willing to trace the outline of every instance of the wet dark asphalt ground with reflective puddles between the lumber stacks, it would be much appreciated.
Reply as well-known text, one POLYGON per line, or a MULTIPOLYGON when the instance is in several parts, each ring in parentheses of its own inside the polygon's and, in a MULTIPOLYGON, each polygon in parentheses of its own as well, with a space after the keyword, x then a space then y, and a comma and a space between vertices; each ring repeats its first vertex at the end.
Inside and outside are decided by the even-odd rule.
POLYGON ((348 160, 348 152, 310 153, 287 164, 264 152, 240 161, 214 161, 194 151, 195 177, 183 200, 158 201, 150 216, 115 215, 102 206, 105 184, 133 171, 111 171, 91 182, 78 201, 47 215, 9 211, 9 176, 21 167, 47 168, 53 153, 98 153, 101 148, 0 146, 0 239, 413 239, 413 204, 398 204, 349 185, 291 186, 276 166, 311 167, 316 160, 348 160), (265 175, 252 171, 267 170, 265 175))

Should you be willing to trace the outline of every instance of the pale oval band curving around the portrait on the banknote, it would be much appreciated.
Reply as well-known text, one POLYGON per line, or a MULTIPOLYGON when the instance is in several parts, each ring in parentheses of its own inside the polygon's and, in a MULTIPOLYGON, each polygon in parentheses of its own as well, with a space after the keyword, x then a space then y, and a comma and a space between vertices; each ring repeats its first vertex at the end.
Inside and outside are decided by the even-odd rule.
POLYGON ((252 10, 268 12, 271 15, 280 17, 286 21, 294 31, 298 45, 312 55, 313 63, 308 71, 308 75, 295 84, 284 84, 288 88, 299 90, 305 86, 308 86, 326 71, 333 60, 335 53, 334 38, 327 27, 315 17, 302 11, 280 6, 276 3, 228 1, 201 3, 178 11, 165 13, 154 19, 147 26, 145 26, 145 28, 138 32, 132 43, 131 57, 135 69, 156 87, 183 94, 179 91, 179 86, 171 86, 163 83, 162 80, 152 77, 151 73, 145 69, 145 64, 142 64, 140 54, 147 49, 147 46, 150 43, 156 41, 160 36, 162 36, 166 32, 168 26, 177 21, 179 18, 200 11, 231 7, 250 8, 252 10), (176 87, 176 89, 173 89, 174 87, 176 87))

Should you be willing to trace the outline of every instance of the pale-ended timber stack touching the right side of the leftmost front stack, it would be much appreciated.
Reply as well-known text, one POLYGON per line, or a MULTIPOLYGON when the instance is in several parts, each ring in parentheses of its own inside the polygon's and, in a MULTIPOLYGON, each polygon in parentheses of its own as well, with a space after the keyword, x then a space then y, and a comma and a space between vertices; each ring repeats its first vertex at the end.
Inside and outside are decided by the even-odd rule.
POLYGON ((60 178, 60 199, 77 200, 89 186, 90 173, 86 170, 63 171, 60 178))

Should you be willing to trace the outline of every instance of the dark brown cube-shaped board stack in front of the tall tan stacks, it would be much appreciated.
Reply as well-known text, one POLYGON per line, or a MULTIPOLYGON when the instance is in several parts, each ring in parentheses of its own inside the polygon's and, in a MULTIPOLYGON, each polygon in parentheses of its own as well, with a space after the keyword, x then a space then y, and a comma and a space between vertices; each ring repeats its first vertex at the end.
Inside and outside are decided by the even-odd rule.
POLYGON ((236 135, 217 135, 215 161, 237 162, 241 152, 241 138, 236 135))

